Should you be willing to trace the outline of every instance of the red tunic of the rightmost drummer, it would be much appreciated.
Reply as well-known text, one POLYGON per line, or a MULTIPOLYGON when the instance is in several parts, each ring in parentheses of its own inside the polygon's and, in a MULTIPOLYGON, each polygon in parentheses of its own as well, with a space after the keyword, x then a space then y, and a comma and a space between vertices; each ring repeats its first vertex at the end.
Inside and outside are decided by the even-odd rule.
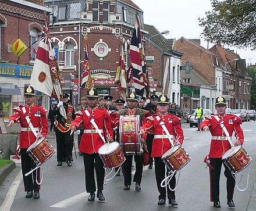
MULTIPOLYGON (((211 140, 209 158, 222 158, 224 153, 231 148, 228 140, 216 140, 216 137, 226 137, 227 135, 223 131, 221 127, 221 123, 223 122, 224 126, 229 133, 229 137, 232 137, 233 131, 234 136, 239 137, 239 141, 241 144, 244 142, 244 134, 243 130, 240 127, 242 124, 242 120, 235 115, 209 115, 205 116, 205 120, 200 124, 200 128, 204 128, 204 126, 209 126, 209 130, 211 135, 215 137, 215 139, 211 140), (219 118, 219 121, 216 120, 214 116, 219 118)), ((221 138, 218 138, 221 139, 221 138)))

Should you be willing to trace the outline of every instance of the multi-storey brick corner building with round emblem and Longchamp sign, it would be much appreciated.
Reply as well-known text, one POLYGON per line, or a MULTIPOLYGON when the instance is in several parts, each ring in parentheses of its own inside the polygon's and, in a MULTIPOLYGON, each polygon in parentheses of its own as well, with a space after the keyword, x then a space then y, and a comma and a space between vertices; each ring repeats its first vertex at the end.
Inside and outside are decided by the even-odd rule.
MULTIPOLYGON (((100 95, 112 95, 119 98, 119 92, 113 81, 120 55, 120 43, 125 45, 125 64, 130 65, 130 40, 133 33, 136 14, 140 17, 143 41, 145 30, 143 11, 130 0, 106 1, 60 1, 45 0, 45 6, 52 9, 50 17, 51 38, 58 49, 58 61, 63 79, 70 73, 74 82, 80 85, 84 47, 88 45, 90 71, 94 86, 100 95), (87 40, 84 40, 84 37, 87 40), (80 62, 81 61, 81 62, 80 62)), ((63 87, 70 90, 70 87, 63 87)), ((82 89, 74 94, 74 103, 83 96, 82 89)))

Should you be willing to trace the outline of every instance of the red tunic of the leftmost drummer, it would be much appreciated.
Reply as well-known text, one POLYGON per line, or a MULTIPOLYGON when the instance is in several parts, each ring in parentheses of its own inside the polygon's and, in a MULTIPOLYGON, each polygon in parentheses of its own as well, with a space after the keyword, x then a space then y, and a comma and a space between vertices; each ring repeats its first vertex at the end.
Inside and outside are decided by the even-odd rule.
MULTIPOLYGON (((46 137, 48 132, 48 122, 45 109, 42 108, 42 106, 33 105, 31 107, 28 107, 20 105, 16 108, 13 108, 13 112, 14 114, 10 117, 9 121, 14 120, 15 122, 20 122, 21 127, 28 128, 29 124, 27 123, 25 117, 29 116, 29 119, 33 124, 34 128, 38 127, 40 133, 44 137, 46 137), (23 108, 26 109, 25 113, 23 113, 23 108)), ((20 131, 20 149, 29 148, 29 146, 33 144, 35 140, 36 137, 31 130, 20 131)))

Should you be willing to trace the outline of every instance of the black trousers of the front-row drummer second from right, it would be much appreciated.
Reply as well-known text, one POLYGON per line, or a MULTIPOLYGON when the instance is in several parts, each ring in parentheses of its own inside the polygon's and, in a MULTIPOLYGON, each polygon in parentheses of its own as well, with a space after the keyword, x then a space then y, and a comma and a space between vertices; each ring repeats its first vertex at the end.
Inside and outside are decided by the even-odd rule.
POLYGON ((161 187, 161 182, 165 178, 165 168, 167 169, 166 171, 166 176, 168 176, 169 169, 163 163, 161 158, 154 158, 155 160, 155 179, 157 180, 157 188, 159 192, 158 199, 166 199, 166 188, 167 188, 167 197, 168 199, 175 199, 175 191, 171 191, 170 188, 174 189, 176 185, 176 178, 175 175, 172 177, 170 180, 170 188, 169 185, 166 187, 161 187))

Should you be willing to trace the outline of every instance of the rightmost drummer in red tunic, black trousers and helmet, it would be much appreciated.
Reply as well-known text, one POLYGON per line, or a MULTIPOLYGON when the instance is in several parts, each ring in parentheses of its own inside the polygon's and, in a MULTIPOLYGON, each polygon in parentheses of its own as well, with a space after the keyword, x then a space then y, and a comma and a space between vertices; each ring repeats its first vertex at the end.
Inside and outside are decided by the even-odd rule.
MULTIPOLYGON (((219 178, 221 176, 222 156, 231 148, 231 137, 234 132, 236 141, 234 145, 241 145, 244 142, 243 130, 240 127, 242 120, 235 115, 226 114, 226 100, 223 96, 218 96, 215 102, 217 114, 205 116, 205 121, 200 125, 200 129, 210 131, 212 135, 209 151, 210 181, 211 181, 211 202, 214 202, 215 208, 221 208, 219 202, 219 178)), ((226 165, 225 177, 227 178, 227 205, 234 208, 233 192, 235 180, 231 171, 226 165)))

